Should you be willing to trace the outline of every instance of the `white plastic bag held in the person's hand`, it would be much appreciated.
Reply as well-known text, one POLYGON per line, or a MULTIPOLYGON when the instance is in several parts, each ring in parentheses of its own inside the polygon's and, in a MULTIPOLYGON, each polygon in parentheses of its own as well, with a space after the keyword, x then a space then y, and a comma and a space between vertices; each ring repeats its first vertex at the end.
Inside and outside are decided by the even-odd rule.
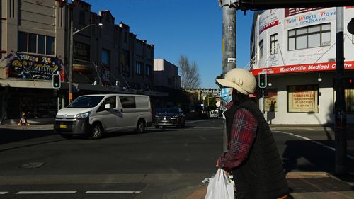
POLYGON ((224 170, 217 169, 217 174, 210 178, 205 199, 234 199, 234 185, 224 170))

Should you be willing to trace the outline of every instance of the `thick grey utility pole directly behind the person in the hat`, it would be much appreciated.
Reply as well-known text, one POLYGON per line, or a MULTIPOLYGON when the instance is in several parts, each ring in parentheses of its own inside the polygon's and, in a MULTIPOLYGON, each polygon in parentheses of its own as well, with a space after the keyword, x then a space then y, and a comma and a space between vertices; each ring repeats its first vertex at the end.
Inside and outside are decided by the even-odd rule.
MULTIPOLYGON (((222 8, 222 76, 236 68, 236 0, 218 0, 222 8)), ((223 151, 227 151, 226 120, 223 127, 223 151)))

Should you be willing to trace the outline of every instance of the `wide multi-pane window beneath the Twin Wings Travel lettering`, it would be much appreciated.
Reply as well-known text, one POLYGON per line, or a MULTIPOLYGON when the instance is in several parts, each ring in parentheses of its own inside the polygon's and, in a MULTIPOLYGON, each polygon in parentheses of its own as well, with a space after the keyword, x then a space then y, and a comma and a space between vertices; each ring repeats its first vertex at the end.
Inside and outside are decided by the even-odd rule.
POLYGON ((331 23, 289 30, 287 50, 300 50, 331 45, 331 23))

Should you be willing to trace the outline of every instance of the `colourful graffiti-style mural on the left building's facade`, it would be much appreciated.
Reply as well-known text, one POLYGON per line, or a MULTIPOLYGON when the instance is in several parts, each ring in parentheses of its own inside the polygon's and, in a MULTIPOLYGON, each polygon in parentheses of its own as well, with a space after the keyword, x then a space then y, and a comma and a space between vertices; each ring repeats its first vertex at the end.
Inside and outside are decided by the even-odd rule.
POLYGON ((16 54, 8 62, 8 77, 22 79, 52 79, 52 74, 62 72, 60 59, 16 54))

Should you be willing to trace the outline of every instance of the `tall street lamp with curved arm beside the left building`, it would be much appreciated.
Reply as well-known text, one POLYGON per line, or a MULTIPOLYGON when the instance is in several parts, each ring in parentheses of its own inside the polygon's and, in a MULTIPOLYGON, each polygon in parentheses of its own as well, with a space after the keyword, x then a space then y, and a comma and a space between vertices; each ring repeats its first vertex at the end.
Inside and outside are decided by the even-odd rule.
POLYGON ((89 24, 86 25, 84 28, 81 28, 80 30, 76 30, 75 32, 73 32, 74 30, 74 25, 73 25, 73 20, 70 20, 70 54, 69 54, 69 103, 72 102, 72 62, 73 62, 73 52, 74 52, 74 35, 76 33, 79 33, 81 30, 84 30, 92 25, 98 25, 98 27, 102 28, 103 27, 103 23, 93 23, 93 24, 89 24))

